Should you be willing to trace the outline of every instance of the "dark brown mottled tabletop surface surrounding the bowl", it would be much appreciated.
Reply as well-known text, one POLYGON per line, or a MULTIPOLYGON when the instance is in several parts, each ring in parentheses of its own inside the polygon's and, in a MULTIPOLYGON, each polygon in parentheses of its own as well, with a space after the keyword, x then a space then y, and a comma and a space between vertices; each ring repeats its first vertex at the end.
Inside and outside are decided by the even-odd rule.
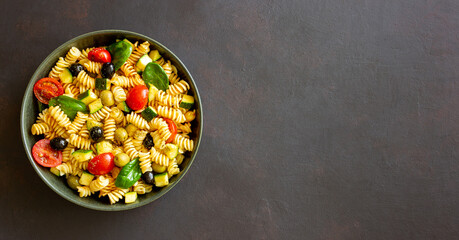
POLYGON ((459 1, 5 1, 0 239, 459 237, 459 1), (187 176, 126 212, 78 207, 24 154, 40 62, 93 30, 158 40, 193 74, 187 176))

